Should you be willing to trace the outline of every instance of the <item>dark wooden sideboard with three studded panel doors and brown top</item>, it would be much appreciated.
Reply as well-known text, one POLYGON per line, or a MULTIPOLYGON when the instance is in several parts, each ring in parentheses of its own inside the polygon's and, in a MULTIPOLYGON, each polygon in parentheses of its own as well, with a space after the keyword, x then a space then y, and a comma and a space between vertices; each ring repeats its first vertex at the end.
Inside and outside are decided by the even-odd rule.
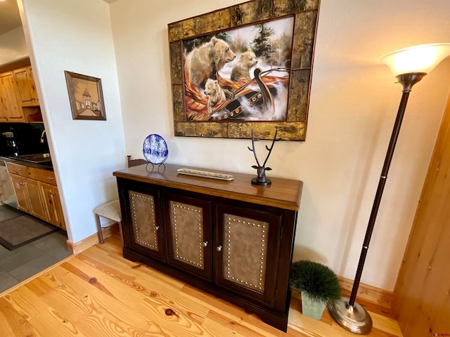
POLYGON ((302 182, 232 173, 186 176, 167 164, 115 171, 124 257, 193 284, 286 331, 302 182))

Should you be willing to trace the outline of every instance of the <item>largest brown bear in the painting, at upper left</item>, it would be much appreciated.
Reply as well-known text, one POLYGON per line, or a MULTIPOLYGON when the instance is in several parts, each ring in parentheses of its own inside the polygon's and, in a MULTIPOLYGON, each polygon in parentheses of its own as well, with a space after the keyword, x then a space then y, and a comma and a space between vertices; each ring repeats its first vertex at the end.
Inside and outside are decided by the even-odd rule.
POLYGON ((212 37, 186 56, 184 72, 198 89, 204 88, 206 80, 217 79, 217 72, 228 62, 236 58, 224 40, 212 37))

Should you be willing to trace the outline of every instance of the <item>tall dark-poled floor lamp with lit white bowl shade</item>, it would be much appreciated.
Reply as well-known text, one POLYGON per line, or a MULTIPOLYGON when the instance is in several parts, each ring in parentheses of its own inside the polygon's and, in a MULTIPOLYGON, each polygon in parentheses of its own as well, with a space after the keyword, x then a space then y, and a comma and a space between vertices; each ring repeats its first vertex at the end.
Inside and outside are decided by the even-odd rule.
POLYGON ((380 182, 378 183, 375 200, 373 201, 371 216, 368 220, 366 237, 364 238, 361 256, 359 257, 359 263, 356 269, 352 294, 350 295, 350 298, 341 297, 337 302, 330 303, 330 305, 328 305, 330 314, 333 316, 335 321, 353 333, 363 335, 369 333, 372 329, 371 316, 368 315, 368 312, 361 305, 355 302, 356 293, 358 292, 364 261, 366 260, 368 251, 368 244, 371 241, 373 227, 375 225, 375 219, 378 213, 378 207, 380 206, 381 197, 385 188, 387 172, 389 171, 389 166, 391 164, 392 154, 394 154, 395 143, 397 143, 397 137, 399 136, 401 120, 403 119, 406 109, 409 93, 411 92, 411 88, 414 84, 420 81, 426 74, 433 70, 439 62, 444 60, 444 58, 449 55, 450 43, 425 44, 422 46, 401 49, 400 51, 394 51, 394 53, 385 55, 385 57, 381 59, 396 75, 398 83, 403 86, 403 93, 401 94, 399 111, 397 112, 397 118, 395 119, 391 140, 389 147, 387 148, 385 164, 383 165, 383 170, 381 171, 380 182))

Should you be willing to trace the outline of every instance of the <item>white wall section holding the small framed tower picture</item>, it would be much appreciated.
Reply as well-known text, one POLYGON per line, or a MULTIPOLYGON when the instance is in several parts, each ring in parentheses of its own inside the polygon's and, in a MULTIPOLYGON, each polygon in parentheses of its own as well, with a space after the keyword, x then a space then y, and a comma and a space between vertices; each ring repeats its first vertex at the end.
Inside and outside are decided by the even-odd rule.
POLYGON ((117 198, 112 173, 125 166, 109 6, 101 0, 19 0, 19 8, 69 239, 79 242, 96 232, 92 209, 117 198), (72 119, 65 70, 101 79, 106 121, 72 119))

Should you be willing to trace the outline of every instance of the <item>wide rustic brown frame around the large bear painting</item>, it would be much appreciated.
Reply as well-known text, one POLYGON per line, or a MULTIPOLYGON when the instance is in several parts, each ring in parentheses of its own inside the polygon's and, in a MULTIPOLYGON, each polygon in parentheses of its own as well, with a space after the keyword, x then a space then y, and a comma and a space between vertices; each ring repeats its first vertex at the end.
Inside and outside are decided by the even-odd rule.
POLYGON ((252 0, 168 25, 174 135, 305 140, 319 0, 252 0), (188 121, 183 41, 293 15, 288 112, 285 121, 188 121))

